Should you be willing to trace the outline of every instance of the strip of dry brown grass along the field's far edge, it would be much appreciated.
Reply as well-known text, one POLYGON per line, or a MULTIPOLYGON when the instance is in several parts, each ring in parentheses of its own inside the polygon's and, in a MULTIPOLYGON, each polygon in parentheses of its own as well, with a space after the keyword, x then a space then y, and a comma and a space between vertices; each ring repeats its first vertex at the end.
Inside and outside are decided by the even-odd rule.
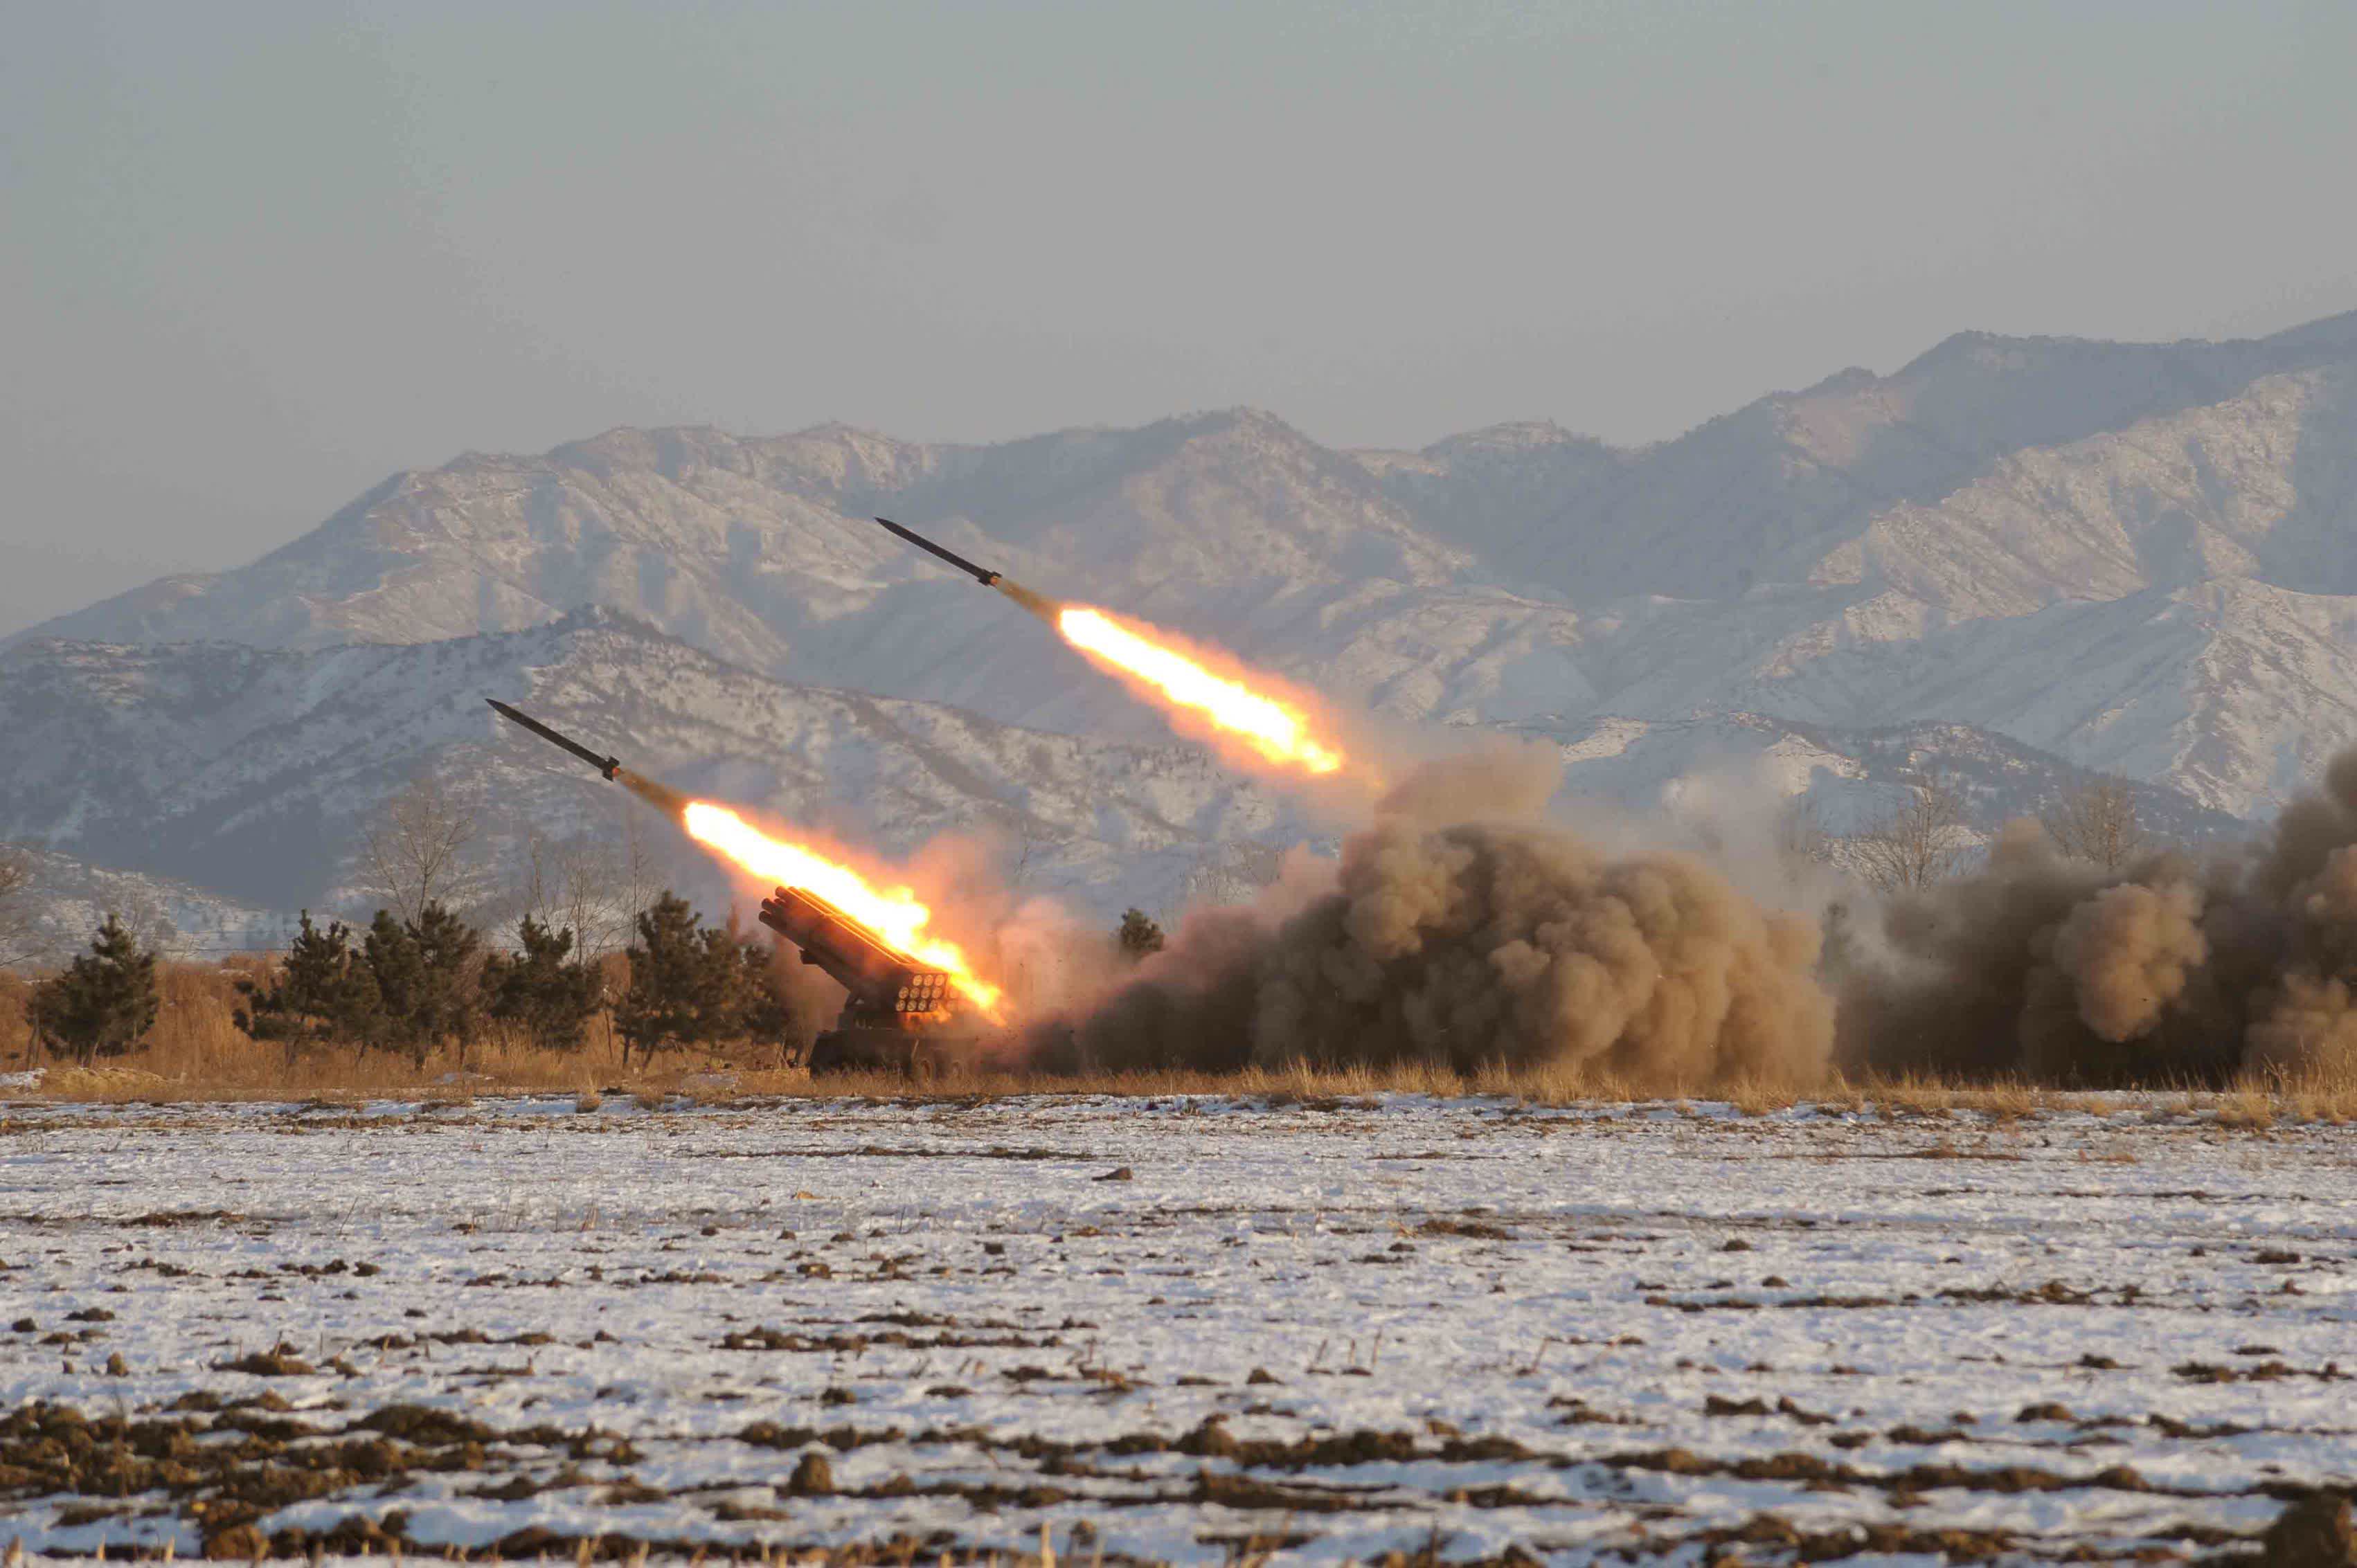
MULTIPOLYGON (((775 1059, 759 1049, 669 1052, 651 1063, 632 1061, 625 1068, 620 1042, 603 1019, 592 1026, 580 1052, 544 1052, 521 1040, 486 1040, 464 1054, 434 1052, 424 1063, 403 1054, 354 1049, 311 1049, 290 1056, 280 1045, 245 1037, 231 1019, 238 1002, 236 979, 252 969, 252 960, 236 969, 163 964, 158 969, 163 1004, 153 1033, 137 1052, 92 1068, 52 1063, 40 1056, 24 1026, 24 1002, 31 986, 21 976, 0 974, 0 1070, 47 1068, 38 1096, 52 1101, 464 1101, 486 1092, 542 1092, 573 1094, 580 1111, 596 1111, 601 1089, 653 1108, 738 1103, 775 1094, 896 1101, 990 1101, 1016 1094, 1131 1099, 1233 1094, 1313 1108, 1343 1108, 1376 1094, 1494 1096, 1525 1106, 1702 1099, 1732 1103, 1742 1115, 1770 1115, 1796 1103, 1815 1103, 1824 1111, 1855 1115, 1945 1118, 1978 1113, 1996 1122, 2060 1111, 2110 1115, 2121 1108, 2119 1094, 2084 1094, 2018 1080, 1850 1080, 1831 1073, 1815 1085, 1761 1080, 1664 1087, 1633 1085, 1610 1073, 1570 1066, 1485 1068, 1471 1075, 1428 1063, 1393 1063, 1379 1068, 1247 1068, 1235 1075, 1169 1070, 1047 1078, 1021 1070, 973 1070, 922 1085, 891 1073, 841 1073, 813 1080, 799 1068, 778 1068, 775 1059)), ((2164 1089, 2168 1099, 2152 1106, 2147 1120, 2206 1115, 2218 1127, 2249 1132, 2263 1132, 2277 1122, 2357 1122, 2357 1070, 2298 1078, 2253 1075, 2225 1089, 2180 1085, 2164 1085, 2164 1089)))

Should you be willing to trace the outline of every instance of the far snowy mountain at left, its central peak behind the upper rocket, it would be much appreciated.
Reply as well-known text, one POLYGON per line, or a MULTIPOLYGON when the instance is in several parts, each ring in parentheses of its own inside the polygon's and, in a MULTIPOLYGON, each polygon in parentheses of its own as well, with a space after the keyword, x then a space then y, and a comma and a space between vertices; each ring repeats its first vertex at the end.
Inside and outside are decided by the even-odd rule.
POLYGON ((1167 615, 1398 717, 1565 700, 1565 611, 1483 582, 1360 462, 1256 413, 1002 448, 830 427, 773 441, 608 431, 544 457, 469 455, 389 479, 243 571, 26 637, 323 648, 507 632, 606 604, 797 681, 1162 736, 1110 681, 1075 679, 1070 653, 1004 599, 865 521, 884 509, 1035 587, 1167 615))

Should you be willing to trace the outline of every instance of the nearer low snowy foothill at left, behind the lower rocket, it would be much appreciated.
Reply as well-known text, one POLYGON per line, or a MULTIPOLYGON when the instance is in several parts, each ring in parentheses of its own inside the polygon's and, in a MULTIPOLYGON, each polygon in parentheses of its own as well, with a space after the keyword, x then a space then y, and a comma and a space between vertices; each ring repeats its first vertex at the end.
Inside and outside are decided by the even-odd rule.
MULTIPOLYGON (((1023 858, 1080 908, 1167 908, 1237 844, 1315 832, 1190 745, 1018 731, 969 712, 787 686, 613 613, 424 646, 35 641, 0 655, 0 837, 134 863, 259 903, 342 903, 356 825, 420 769, 509 877, 526 832, 615 837, 627 797, 502 724, 504 696, 632 766, 877 854, 945 832, 1023 858)), ((717 887, 676 835, 665 872, 717 887)), ((497 877, 495 877, 497 879, 497 877)))

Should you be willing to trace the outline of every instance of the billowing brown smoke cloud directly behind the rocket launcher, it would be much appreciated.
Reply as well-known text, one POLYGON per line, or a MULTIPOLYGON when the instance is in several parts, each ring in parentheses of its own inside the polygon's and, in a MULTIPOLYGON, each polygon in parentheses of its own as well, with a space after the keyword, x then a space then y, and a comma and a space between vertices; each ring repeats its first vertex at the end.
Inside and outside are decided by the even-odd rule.
POLYGON ((1558 762, 1426 764, 1318 884, 1190 915, 1051 1033, 1077 1068, 1577 1066, 1645 1087, 1808 1080, 1834 1045, 1817 927, 1681 854, 1544 823, 1558 762))

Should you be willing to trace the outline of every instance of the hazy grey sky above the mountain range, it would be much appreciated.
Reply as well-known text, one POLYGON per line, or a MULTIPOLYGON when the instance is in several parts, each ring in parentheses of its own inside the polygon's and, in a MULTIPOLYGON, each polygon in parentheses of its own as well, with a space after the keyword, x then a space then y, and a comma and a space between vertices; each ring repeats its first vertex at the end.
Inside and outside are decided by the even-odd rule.
POLYGON ((2357 307, 2357 5, 0 0, 0 632, 610 424, 1645 441, 2357 307))

